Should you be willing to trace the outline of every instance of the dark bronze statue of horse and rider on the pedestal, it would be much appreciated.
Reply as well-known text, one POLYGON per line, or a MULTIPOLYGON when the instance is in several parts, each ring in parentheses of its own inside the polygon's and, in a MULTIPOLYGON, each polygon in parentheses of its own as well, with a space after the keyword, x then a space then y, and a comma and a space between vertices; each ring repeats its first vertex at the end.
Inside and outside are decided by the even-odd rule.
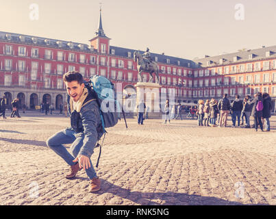
POLYGON ((137 69, 139 73, 138 81, 142 82, 142 72, 149 73, 151 75, 149 82, 153 81, 153 73, 157 77, 156 83, 159 84, 158 64, 151 59, 151 53, 149 48, 142 55, 138 52, 134 52, 134 62, 137 62, 137 69))

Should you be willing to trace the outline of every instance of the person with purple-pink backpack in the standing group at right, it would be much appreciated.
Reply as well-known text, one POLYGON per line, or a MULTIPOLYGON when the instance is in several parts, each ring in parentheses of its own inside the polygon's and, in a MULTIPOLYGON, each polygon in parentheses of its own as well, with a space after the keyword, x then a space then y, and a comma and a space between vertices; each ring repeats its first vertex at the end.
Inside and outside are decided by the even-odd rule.
POLYGON ((249 101, 249 105, 253 105, 251 116, 254 118, 254 127, 255 130, 258 131, 258 125, 260 125, 260 129, 262 131, 262 110, 263 110, 263 99, 262 99, 262 93, 258 92, 254 95, 254 99, 252 101, 249 101))

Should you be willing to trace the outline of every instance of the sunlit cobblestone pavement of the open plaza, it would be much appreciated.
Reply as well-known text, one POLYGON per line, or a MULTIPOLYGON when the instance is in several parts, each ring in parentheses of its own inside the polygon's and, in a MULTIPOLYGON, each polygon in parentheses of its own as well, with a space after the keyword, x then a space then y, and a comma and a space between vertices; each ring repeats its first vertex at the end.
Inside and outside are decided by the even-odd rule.
POLYGON ((68 118, 1 119, 0 205, 276 205, 271 120, 271 132, 196 120, 127 119, 125 129, 122 120, 108 129, 96 169, 102 189, 93 194, 84 170, 65 179, 68 166, 45 144, 68 118))

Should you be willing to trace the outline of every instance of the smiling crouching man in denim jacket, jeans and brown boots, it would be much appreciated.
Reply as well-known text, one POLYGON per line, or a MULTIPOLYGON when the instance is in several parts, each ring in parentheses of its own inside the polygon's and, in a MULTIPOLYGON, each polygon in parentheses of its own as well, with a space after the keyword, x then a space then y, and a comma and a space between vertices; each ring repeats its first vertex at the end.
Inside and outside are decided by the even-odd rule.
POLYGON ((90 157, 99 138, 103 136, 100 109, 95 96, 84 85, 80 73, 69 71, 63 75, 67 90, 68 113, 71 127, 55 133, 47 140, 47 146, 71 166, 66 179, 72 179, 82 168, 90 179, 90 192, 101 189, 101 181, 92 166, 90 157), (63 144, 71 144, 69 153, 63 144))

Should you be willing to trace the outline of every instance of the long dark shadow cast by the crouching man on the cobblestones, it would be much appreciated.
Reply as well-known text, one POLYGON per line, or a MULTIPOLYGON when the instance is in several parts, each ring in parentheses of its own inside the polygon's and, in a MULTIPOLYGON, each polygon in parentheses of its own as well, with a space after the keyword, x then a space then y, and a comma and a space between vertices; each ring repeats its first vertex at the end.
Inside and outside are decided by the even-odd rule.
MULTIPOLYGON (((153 188, 154 189, 154 188, 153 188)), ((195 194, 177 192, 131 192, 117 185, 101 179, 101 190, 97 194, 114 194, 114 196, 128 199, 138 205, 244 205, 236 201, 227 201, 212 196, 199 196, 195 194), (162 204, 154 200, 163 201, 162 204)), ((250 204, 252 205, 252 204, 250 204)), ((262 204, 261 204, 262 205, 262 204)))

